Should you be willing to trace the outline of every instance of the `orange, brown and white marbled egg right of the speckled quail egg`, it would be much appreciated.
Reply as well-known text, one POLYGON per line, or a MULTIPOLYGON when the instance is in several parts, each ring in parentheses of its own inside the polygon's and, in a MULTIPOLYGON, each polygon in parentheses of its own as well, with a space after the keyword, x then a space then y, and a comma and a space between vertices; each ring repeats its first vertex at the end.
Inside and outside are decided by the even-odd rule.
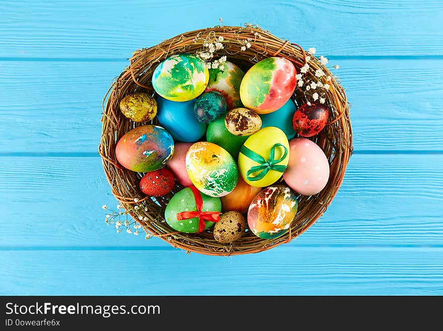
POLYGON ((297 214, 297 196, 289 187, 269 186, 258 193, 248 210, 251 231, 263 239, 283 235, 297 214))

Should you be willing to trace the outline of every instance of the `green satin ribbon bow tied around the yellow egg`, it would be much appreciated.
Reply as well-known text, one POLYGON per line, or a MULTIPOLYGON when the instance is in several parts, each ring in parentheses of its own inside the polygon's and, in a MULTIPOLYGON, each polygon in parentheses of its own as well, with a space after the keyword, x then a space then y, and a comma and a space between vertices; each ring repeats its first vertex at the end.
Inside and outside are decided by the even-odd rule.
POLYGON ((242 153, 247 158, 250 158, 251 160, 259 163, 259 165, 251 167, 251 169, 248 170, 246 173, 246 179, 250 181, 256 181, 262 179, 266 174, 269 172, 269 170, 275 170, 278 172, 284 172, 286 170, 286 166, 277 164, 284 160, 284 158, 287 156, 287 148, 284 147, 281 144, 275 144, 272 146, 271 150, 269 151, 269 159, 266 161, 263 159, 260 155, 255 153, 254 151, 251 151, 249 148, 247 148, 245 145, 242 146, 240 149, 240 153, 242 153), (281 158, 275 160, 275 148, 276 147, 283 147, 284 148, 284 154, 281 158), (258 172, 255 176, 251 176, 253 173, 258 172))

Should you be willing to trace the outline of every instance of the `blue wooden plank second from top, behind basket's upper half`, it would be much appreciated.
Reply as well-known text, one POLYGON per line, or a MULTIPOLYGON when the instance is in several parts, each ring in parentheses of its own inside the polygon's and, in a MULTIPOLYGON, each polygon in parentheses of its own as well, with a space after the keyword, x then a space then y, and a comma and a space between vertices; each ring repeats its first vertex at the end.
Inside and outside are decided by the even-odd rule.
MULTIPOLYGON (((442 150, 443 61, 339 63, 356 151, 442 150)), ((95 153, 101 101, 126 64, 0 61, 0 99, 7 100, 0 122, 14 123, 0 126, 0 153, 95 153)))

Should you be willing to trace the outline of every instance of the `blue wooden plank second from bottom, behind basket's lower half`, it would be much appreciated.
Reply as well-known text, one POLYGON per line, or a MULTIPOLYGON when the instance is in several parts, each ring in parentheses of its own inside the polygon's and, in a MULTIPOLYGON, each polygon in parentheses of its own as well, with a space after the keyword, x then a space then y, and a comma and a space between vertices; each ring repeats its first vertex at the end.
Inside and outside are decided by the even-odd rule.
MULTIPOLYGON (((289 246, 441 246, 443 155, 354 155, 329 209, 289 246)), ((100 158, 0 158, 0 248, 157 247, 117 234, 100 158)))

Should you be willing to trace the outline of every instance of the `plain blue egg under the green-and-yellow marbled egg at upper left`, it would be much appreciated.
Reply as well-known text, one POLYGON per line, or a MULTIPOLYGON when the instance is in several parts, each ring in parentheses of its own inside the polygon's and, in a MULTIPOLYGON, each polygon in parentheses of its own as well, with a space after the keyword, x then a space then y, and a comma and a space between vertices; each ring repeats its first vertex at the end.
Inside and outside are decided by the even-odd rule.
POLYGON ((206 124, 194 116, 194 100, 175 102, 162 97, 157 99, 159 110, 157 119, 171 136, 179 142, 195 142, 206 132, 206 124))

